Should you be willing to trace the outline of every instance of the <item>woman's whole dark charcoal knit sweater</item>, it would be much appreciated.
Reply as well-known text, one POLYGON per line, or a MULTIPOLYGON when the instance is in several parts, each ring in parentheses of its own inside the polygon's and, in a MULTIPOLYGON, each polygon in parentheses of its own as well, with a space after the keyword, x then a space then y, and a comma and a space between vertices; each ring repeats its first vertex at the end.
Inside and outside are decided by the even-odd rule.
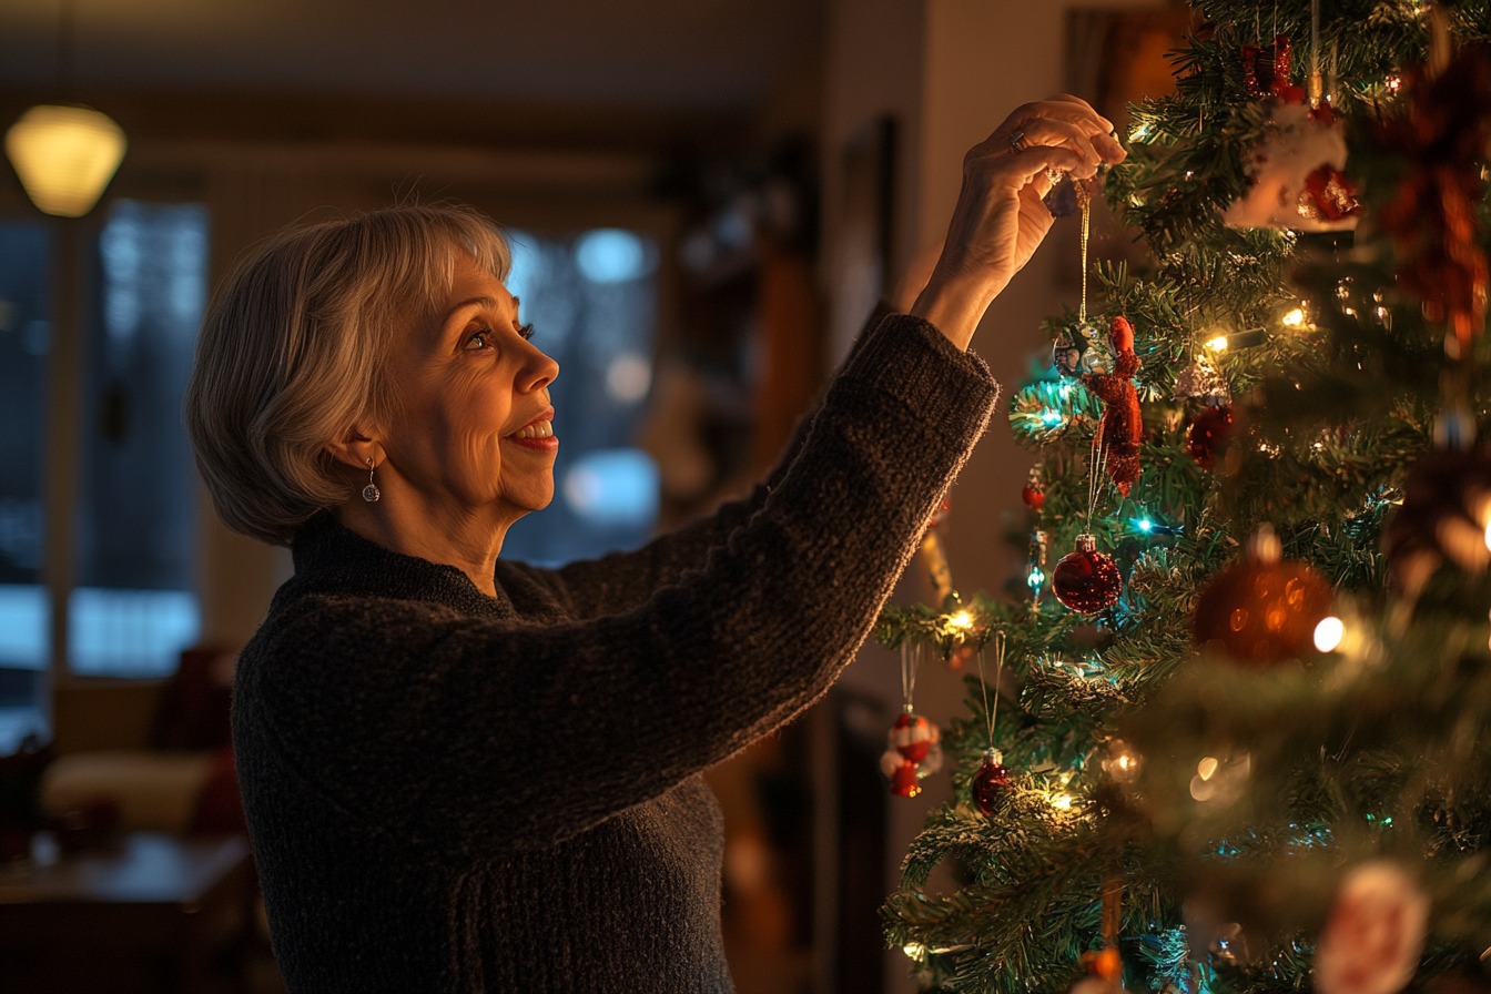
POLYGON ((996 396, 889 316, 772 486, 497 598, 307 525, 233 712, 289 990, 732 990, 699 773, 854 657, 996 396))

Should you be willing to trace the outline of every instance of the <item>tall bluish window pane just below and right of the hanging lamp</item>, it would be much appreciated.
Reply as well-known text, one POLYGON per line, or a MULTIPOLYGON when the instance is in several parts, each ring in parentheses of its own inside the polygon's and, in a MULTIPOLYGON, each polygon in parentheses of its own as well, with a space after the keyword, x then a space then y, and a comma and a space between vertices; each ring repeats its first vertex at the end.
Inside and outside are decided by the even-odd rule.
POLYGON ((85 347, 75 672, 157 677, 200 629, 195 475, 182 423, 207 292, 207 212, 119 200, 98 237, 85 347))

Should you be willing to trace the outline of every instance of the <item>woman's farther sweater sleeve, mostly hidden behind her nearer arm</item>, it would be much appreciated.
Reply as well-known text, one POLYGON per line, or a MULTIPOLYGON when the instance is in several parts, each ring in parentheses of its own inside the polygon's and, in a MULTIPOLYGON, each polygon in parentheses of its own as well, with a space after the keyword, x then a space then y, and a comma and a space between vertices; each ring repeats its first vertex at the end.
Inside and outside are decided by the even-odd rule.
MULTIPOLYGON (((892 313, 895 311, 886 301, 875 306, 841 368, 848 368, 854 362, 865 343, 880 331, 892 313)), ((722 544, 732 531, 746 523, 746 519, 760 510, 772 487, 781 481, 802 450, 822 407, 823 398, 819 398, 813 410, 798 422, 792 440, 766 480, 751 487, 746 498, 723 504, 714 514, 661 535, 637 551, 611 553, 599 559, 573 562, 559 569, 531 568, 535 578, 581 618, 617 614, 640 605, 653 590, 674 583, 684 571, 704 566, 710 548, 722 544)))

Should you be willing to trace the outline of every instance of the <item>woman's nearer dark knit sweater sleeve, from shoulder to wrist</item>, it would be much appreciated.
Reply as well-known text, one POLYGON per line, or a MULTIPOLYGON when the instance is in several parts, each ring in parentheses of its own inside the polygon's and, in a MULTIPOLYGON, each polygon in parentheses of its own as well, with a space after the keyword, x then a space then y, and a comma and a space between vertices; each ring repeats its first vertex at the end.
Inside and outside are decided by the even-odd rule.
POLYGON ((828 688, 997 392, 981 359, 895 316, 699 569, 628 611, 555 626, 307 596, 242 674, 239 720, 370 833, 440 851, 573 836, 828 688))

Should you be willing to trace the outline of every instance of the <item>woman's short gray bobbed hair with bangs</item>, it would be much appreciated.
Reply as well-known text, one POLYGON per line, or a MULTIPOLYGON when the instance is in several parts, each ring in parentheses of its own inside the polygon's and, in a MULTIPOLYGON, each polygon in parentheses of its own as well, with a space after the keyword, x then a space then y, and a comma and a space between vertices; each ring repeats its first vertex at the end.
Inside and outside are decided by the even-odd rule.
POLYGON ((289 544, 350 496, 325 447, 397 416, 389 346, 443 307, 459 252, 507 279, 501 229, 459 206, 286 228, 234 267, 207 307, 186 387, 197 471, 228 528, 289 544))

